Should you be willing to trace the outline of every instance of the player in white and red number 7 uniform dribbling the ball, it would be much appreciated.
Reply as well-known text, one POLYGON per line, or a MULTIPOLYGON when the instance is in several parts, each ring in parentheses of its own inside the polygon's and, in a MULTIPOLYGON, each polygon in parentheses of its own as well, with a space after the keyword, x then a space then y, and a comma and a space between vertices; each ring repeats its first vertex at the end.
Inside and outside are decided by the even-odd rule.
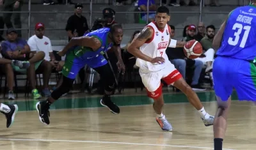
POLYGON ((198 110, 205 126, 213 124, 214 116, 205 112, 202 103, 196 93, 182 78, 182 75, 170 63, 166 55, 167 47, 184 47, 184 41, 171 40, 169 10, 165 6, 157 8, 156 21, 148 24, 143 31, 134 38, 128 47, 135 57, 138 57, 136 65, 140 67, 140 76, 147 88, 148 97, 154 99, 154 110, 157 114, 156 121, 164 131, 172 131, 172 125, 163 115, 163 94, 161 80, 166 84, 177 87, 188 97, 189 102, 198 110))

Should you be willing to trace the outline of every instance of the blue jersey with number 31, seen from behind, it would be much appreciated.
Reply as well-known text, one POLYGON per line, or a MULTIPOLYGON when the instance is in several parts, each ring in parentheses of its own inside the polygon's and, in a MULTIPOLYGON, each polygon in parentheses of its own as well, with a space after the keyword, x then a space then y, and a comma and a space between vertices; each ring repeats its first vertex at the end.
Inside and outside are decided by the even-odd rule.
POLYGON ((217 56, 250 61, 256 57, 256 7, 242 6, 228 19, 217 56))

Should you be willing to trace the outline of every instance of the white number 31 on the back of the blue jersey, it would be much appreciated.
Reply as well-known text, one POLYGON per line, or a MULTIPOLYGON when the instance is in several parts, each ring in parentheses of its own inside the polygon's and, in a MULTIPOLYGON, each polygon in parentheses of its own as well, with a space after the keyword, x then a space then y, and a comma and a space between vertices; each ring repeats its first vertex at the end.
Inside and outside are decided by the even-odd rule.
POLYGON ((243 24, 236 23, 236 24, 234 24, 232 30, 236 30, 236 29, 238 29, 238 30, 237 30, 237 32, 234 33, 235 37, 234 38, 231 38, 231 37, 228 38, 228 44, 236 46, 238 41, 239 41, 239 38, 241 38, 240 34, 242 33, 242 30, 244 29, 245 30, 244 35, 243 35, 241 43, 239 45, 239 47, 244 48, 245 43, 246 43, 247 38, 248 38, 248 35, 250 33, 251 26, 243 26, 243 24))

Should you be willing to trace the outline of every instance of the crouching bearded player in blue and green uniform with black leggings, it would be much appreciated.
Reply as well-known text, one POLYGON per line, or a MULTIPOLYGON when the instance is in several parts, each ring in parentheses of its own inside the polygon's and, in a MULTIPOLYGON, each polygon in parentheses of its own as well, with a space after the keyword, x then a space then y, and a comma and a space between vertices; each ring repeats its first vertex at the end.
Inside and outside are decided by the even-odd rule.
POLYGON ((49 107, 58 100, 64 93, 68 93, 72 87, 76 75, 86 64, 97 71, 105 82, 105 94, 100 100, 100 104, 113 114, 119 114, 120 109, 110 99, 110 95, 115 90, 115 77, 111 72, 108 61, 103 54, 111 49, 115 49, 118 58, 118 68, 124 73, 124 63, 121 57, 120 43, 123 38, 123 30, 120 24, 114 24, 110 28, 101 28, 84 36, 72 38, 69 43, 59 52, 60 56, 65 56, 63 66, 63 82, 60 87, 54 90, 45 101, 36 103, 36 110, 39 119, 44 124, 49 124, 49 107))

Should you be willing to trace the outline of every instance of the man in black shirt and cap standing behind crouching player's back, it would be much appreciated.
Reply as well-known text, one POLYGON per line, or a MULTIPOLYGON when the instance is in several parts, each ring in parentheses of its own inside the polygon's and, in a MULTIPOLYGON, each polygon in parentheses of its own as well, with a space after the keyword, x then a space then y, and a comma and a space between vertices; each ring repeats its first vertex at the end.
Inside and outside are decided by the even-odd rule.
MULTIPOLYGON (((77 3, 75 5, 75 14, 70 16, 67 21, 66 31, 68 33, 68 41, 71 38, 76 36, 83 36, 86 31, 89 30, 89 26, 87 24, 86 18, 82 15, 83 12, 83 5, 77 3)), ((81 84, 83 85, 84 82, 84 68, 79 71, 79 78, 81 80, 81 84)))

